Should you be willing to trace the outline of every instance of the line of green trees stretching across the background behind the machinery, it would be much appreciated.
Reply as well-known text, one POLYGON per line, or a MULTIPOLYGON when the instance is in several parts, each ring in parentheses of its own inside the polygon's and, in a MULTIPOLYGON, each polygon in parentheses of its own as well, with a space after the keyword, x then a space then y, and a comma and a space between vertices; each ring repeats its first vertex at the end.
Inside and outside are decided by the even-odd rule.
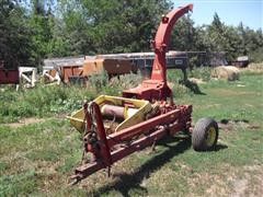
MULTIPOLYGON (((149 51, 161 15, 171 9, 169 0, 0 0, 0 60, 36 67, 50 57, 149 51)), ((170 49, 263 61, 263 33, 242 23, 226 25, 217 13, 202 26, 185 15, 170 49)))

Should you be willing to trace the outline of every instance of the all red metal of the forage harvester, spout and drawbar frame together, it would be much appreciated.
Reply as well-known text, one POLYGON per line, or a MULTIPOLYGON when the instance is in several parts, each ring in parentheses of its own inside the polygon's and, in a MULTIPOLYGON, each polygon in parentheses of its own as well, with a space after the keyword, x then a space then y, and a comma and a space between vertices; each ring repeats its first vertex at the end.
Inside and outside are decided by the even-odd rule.
MULTIPOLYGON (((115 134, 106 135, 99 105, 94 102, 84 105, 87 124, 84 147, 94 160, 76 169, 76 174, 71 176, 76 182, 103 167, 110 167, 114 162, 153 144, 168 135, 191 130, 192 105, 174 105, 172 102, 172 91, 167 84, 165 53, 172 26, 180 16, 192 9, 193 5, 188 4, 171 11, 162 18, 153 42, 156 59, 151 79, 144 81, 136 89, 123 93, 125 97, 144 99, 151 102, 158 100, 160 111, 153 117, 115 134), (170 104, 167 102, 168 97, 171 97, 170 104)), ((106 114, 108 114, 107 109, 106 114)), ((114 109, 119 111, 116 107, 114 109)))

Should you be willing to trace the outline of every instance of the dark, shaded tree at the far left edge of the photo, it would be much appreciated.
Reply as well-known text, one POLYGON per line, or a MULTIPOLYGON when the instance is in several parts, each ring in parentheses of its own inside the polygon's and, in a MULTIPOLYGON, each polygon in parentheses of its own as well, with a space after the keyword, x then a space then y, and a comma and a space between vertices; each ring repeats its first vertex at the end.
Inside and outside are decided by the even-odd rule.
POLYGON ((31 30, 24 10, 14 0, 0 1, 0 59, 8 68, 26 65, 30 59, 31 30))

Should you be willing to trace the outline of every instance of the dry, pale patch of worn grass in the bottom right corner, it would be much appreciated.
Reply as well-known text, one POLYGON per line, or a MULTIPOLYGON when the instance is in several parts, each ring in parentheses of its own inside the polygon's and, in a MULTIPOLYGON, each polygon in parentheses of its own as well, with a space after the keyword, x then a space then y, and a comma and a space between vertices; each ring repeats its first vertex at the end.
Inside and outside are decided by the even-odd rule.
POLYGON ((187 178, 187 184, 192 194, 198 193, 196 196, 262 196, 262 167, 261 164, 241 167, 222 165, 215 174, 194 173, 187 178))

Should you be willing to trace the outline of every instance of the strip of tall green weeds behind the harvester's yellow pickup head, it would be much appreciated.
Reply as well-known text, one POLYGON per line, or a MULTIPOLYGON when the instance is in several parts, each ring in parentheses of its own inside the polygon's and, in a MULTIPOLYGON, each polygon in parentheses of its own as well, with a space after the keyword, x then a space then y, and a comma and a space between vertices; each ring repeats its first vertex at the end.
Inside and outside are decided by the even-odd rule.
POLYGON ((54 114, 70 114, 79 109, 83 101, 99 94, 122 95, 124 89, 136 86, 141 81, 138 74, 126 74, 111 80, 105 74, 93 76, 87 88, 79 85, 43 85, 15 92, 8 88, 0 93, 0 124, 26 117, 48 117, 54 114))

